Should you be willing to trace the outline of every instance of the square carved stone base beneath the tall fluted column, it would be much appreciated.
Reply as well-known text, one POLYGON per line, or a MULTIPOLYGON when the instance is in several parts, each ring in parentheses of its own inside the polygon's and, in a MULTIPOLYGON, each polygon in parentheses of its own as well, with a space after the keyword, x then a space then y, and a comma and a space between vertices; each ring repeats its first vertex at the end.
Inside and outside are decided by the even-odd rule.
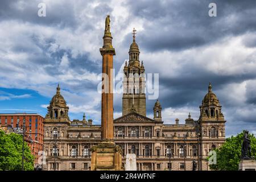
POLYGON ((104 140, 92 147, 91 171, 121 171, 122 149, 112 140, 104 140))

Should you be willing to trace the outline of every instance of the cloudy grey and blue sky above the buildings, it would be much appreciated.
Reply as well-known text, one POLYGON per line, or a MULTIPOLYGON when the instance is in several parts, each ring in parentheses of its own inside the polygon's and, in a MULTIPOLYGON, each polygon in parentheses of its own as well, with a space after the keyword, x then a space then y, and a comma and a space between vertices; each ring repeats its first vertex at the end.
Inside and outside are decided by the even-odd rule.
MULTIPOLYGON (((105 17, 110 14, 115 73, 129 59, 131 32, 146 73, 159 73, 164 123, 184 123, 212 82, 226 135, 256 134, 256 1, 0 1, 0 113, 47 113, 61 86, 71 119, 100 123, 105 17), (46 3, 46 17, 38 4, 46 3), (210 17, 210 2, 217 16, 210 17)), ((152 117, 155 100, 147 100, 152 117)), ((121 116, 122 94, 114 95, 121 116)))

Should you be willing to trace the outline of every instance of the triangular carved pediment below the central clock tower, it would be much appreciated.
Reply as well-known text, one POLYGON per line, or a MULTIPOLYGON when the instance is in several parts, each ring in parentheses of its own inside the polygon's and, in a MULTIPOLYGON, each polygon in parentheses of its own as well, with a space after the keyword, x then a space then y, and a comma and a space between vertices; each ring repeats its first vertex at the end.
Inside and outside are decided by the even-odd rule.
POLYGON ((114 122, 155 122, 155 120, 148 118, 144 115, 131 112, 129 114, 114 119, 114 122))

